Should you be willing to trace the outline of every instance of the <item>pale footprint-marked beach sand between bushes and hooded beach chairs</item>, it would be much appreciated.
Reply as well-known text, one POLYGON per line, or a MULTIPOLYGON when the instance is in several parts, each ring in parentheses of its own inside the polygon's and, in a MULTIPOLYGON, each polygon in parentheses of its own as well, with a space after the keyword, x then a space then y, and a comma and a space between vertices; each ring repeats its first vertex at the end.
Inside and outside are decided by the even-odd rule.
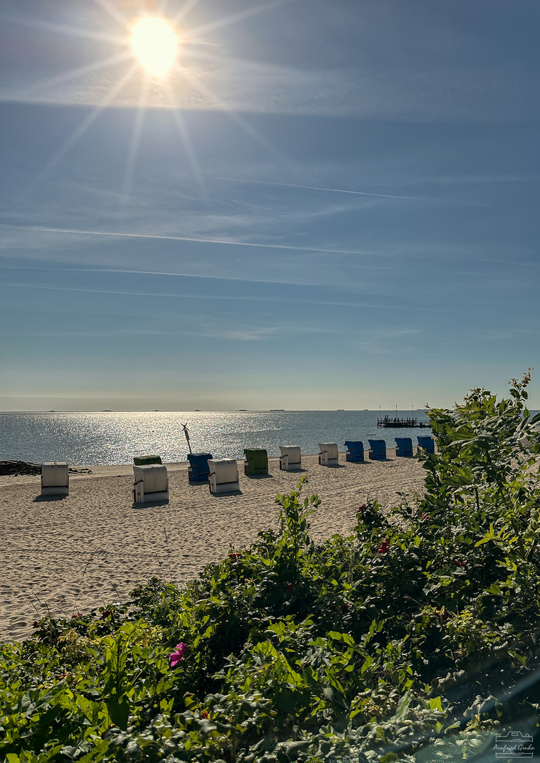
POLYGON ((347 533, 367 497, 390 508, 402 501, 399 493, 422 492, 421 463, 389 456, 345 464, 340 453, 339 466, 327 467, 302 455, 302 472, 280 472, 279 459, 269 459, 268 477, 244 476, 239 460, 240 492, 219 496, 206 483, 189 485, 187 463, 167 464, 169 503, 140 506, 132 502, 132 465, 72 474, 66 497, 42 498, 38 476, 0 477, 0 640, 24 639, 48 612, 69 617, 127 600, 153 575, 178 584, 196 578, 231 545, 247 546, 260 530, 276 528, 276 493, 296 488, 303 474, 309 481, 302 496, 322 499, 310 520, 312 537, 347 533))

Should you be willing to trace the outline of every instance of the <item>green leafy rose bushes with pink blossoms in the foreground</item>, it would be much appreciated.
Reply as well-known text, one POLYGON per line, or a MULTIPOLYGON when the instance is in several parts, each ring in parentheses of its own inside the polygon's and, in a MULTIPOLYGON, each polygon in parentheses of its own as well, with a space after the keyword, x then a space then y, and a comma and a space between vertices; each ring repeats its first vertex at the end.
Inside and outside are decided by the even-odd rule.
POLYGON ((540 445, 513 380, 430 410, 425 494, 316 543, 316 495, 186 588, 43 618, 2 647, 8 763, 493 759, 540 752, 540 445), (482 758, 482 755, 487 757, 482 758))

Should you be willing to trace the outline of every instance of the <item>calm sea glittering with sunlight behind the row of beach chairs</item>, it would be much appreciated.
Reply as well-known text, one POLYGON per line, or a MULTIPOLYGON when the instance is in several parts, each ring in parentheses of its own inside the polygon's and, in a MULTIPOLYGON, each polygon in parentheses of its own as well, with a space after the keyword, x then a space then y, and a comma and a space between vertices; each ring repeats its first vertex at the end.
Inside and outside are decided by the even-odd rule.
POLYGON ((182 424, 188 424, 193 452, 219 458, 244 456, 244 448, 266 448, 280 455, 280 445, 299 445, 318 453, 317 443, 338 443, 368 436, 386 439, 429 435, 425 429, 377 429, 377 417, 414 416, 422 410, 154 411, 152 413, 5 413, 0 414, 0 460, 70 464, 128 464, 134 456, 155 453, 164 462, 185 461, 188 452, 182 424))

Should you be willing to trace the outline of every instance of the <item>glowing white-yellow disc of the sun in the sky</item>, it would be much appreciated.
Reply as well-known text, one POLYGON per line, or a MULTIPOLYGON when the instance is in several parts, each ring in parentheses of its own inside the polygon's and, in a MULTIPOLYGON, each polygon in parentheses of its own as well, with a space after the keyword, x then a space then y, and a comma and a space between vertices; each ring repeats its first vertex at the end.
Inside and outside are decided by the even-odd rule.
POLYGON ((133 27, 131 43, 138 60, 152 76, 163 77, 173 66, 178 40, 164 18, 140 18, 133 27))

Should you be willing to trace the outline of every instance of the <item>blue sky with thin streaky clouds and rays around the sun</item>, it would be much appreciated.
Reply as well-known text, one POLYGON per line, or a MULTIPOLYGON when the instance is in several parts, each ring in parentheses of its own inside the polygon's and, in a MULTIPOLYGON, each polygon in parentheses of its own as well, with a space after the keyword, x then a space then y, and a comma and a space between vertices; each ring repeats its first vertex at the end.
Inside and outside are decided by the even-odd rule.
POLYGON ((538 28, 538 0, 2 0, 0 410, 451 407, 529 366, 540 408, 538 28))

